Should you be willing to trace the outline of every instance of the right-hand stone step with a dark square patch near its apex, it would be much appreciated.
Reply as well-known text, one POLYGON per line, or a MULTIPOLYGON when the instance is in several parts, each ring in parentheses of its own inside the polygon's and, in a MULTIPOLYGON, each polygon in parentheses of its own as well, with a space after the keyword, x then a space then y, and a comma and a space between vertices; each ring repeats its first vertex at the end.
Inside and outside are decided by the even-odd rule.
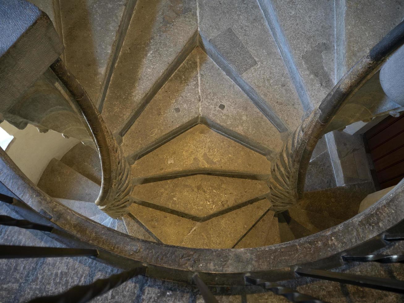
POLYGON ((259 4, 200 0, 198 17, 206 53, 278 130, 295 130, 302 105, 259 4))

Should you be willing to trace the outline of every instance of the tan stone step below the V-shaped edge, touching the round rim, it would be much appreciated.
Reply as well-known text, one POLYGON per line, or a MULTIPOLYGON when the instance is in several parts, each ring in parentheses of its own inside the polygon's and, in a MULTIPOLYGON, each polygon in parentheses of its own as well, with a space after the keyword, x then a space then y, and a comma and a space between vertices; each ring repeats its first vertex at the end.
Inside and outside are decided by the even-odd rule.
MULTIPOLYGON (((204 222, 196 222, 138 204, 132 204, 129 210, 158 240, 165 244, 200 248, 231 248, 268 210, 269 206, 268 200, 264 199, 204 222)), ((128 231, 130 234, 129 229, 128 231)))

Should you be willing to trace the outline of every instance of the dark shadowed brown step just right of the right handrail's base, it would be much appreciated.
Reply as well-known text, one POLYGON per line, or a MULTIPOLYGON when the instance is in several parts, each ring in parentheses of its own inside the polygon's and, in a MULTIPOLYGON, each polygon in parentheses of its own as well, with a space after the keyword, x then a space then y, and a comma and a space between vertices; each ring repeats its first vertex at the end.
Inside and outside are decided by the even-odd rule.
POLYGON ((361 201, 374 191, 375 185, 372 181, 308 191, 296 207, 345 221, 358 213, 361 201))

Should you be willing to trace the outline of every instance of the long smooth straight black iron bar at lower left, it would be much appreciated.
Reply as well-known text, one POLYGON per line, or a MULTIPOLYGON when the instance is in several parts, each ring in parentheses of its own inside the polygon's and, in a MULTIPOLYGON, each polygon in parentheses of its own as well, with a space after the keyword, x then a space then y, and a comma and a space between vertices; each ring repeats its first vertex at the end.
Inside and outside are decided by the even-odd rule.
POLYGON ((0 245, 0 259, 97 256, 97 249, 0 245))

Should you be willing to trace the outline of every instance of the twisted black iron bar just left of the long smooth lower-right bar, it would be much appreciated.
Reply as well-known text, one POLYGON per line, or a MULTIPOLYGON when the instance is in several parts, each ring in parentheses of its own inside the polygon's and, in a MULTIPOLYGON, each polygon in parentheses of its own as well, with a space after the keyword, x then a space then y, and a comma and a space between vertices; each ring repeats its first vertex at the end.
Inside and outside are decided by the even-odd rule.
POLYGON ((271 290, 271 292, 274 292, 276 295, 284 296, 290 302, 326 303, 325 301, 316 299, 314 297, 303 295, 292 288, 280 286, 278 284, 271 283, 262 279, 252 278, 251 276, 245 276, 245 280, 249 284, 261 286, 264 289, 271 290))

